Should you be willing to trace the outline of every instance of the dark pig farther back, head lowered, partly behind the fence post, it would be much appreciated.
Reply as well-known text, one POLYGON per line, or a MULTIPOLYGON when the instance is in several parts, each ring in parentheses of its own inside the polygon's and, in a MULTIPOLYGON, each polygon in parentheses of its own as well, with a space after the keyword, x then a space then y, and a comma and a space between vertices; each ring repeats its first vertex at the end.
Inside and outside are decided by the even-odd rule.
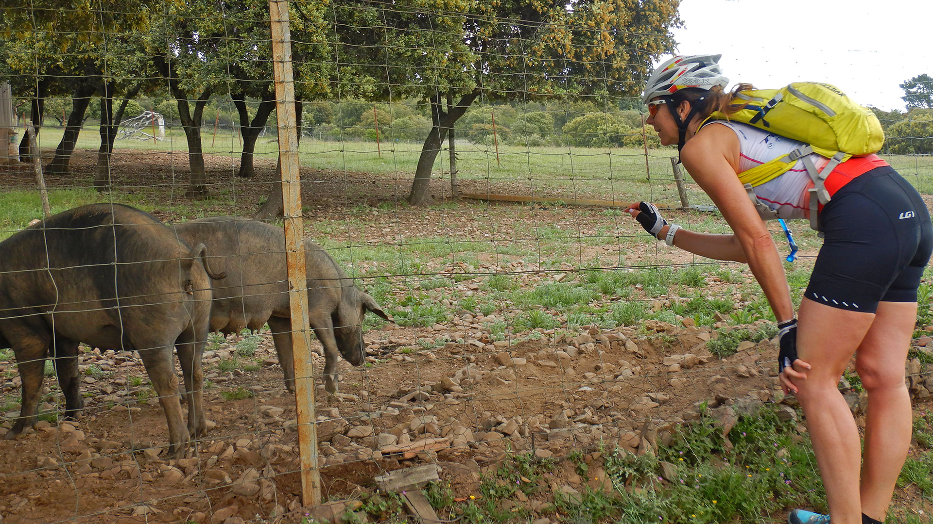
MULTIPOLYGON (((210 251, 212 268, 227 279, 214 284, 211 331, 239 333, 269 323, 285 387, 294 391, 291 311, 285 267, 285 230, 237 216, 201 218, 174 224, 178 237, 202 242, 210 251)), ((391 321, 372 296, 363 293, 327 251, 305 239, 308 321, 324 346, 325 387, 337 393, 338 352, 352 365, 363 364, 363 317, 372 311, 391 321)))

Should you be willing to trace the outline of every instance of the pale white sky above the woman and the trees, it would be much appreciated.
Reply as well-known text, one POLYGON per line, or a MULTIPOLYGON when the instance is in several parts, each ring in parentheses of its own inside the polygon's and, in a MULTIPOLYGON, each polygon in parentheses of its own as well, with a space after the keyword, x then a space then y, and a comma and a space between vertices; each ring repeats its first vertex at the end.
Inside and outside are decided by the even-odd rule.
POLYGON ((818 80, 903 111, 898 84, 933 75, 931 0, 681 0, 680 19, 677 54, 722 53, 730 87, 818 80))

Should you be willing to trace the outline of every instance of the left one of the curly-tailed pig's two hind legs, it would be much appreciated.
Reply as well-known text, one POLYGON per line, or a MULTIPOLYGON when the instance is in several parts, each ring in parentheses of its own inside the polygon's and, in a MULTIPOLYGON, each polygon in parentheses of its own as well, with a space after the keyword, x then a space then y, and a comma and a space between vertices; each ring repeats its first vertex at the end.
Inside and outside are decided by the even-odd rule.
POLYGON ((178 457, 188 446, 190 433, 181 417, 181 403, 178 401, 178 376, 172 361, 172 344, 164 342, 141 341, 133 343, 146 367, 152 387, 159 393, 159 404, 165 412, 169 426, 169 456, 178 457))

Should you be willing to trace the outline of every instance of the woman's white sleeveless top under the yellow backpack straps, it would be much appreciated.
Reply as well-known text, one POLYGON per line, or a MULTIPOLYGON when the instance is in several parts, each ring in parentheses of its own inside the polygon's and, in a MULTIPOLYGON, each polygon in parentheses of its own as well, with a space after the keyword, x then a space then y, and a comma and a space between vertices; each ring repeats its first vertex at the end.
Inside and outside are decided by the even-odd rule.
MULTIPOLYGON (((759 130, 741 122, 717 120, 739 138, 741 157, 739 172, 745 172, 769 160, 777 159, 797 149, 802 142, 759 130)), ((817 171, 823 169, 829 160, 816 154, 808 155, 813 160, 817 171)), ((803 161, 797 160, 789 171, 755 187, 755 195, 781 218, 806 218, 810 215, 810 194, 807 189, 813 187, 813 180, 803 167, 803 161)))

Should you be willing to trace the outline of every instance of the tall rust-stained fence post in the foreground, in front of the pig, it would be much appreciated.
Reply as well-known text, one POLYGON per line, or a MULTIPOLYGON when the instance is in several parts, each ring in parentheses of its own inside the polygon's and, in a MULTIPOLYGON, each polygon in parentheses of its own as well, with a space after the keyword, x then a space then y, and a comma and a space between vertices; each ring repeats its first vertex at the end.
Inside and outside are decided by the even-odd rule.
POLYGON ((311 365, 311 329, 308 325, 308 280, 305 269, 304 224, 301 218, 301 181, 298 157, 298 121, 292 76, 288 0, 269 0, 272 22, 272 63, 275 73, 275 114, 282 164, 282 202, 285 215, 285 260, 288 266, 288 302, 292 320, 295 360, 295 404, 301 461, 301 503, 321 503, 321 476, 317 465, 317 429, 314 426, 314 380, 311 365))

